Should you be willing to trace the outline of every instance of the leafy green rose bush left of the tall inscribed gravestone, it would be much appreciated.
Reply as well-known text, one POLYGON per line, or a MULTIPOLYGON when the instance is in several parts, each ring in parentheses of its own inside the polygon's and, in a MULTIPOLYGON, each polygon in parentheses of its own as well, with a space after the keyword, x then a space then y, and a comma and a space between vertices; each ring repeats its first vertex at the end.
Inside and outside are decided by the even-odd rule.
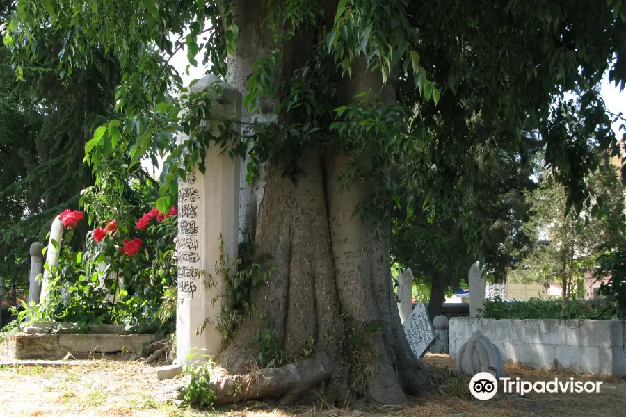
MULTIPOLYGON (((109 219, 105 223, 111 224, 109 219)), ((150 246, 138 254, 125 250, 125 229, 107 227, 100 242, 90 232, 84 252, 72 248, 75 229, 65 233, 63 242, 54 242, 60 250, 58 266, 45 264, 50 293, 45 302, 25 306, 23 318, 73 322, 79 330, 93 324, 123 323, 135 331, 171 331, 173 311, 164 312, 161 299, 175 285, 172 235, 177 231, 177 216, 152 225, 150 238, 144 242, 150 246)))

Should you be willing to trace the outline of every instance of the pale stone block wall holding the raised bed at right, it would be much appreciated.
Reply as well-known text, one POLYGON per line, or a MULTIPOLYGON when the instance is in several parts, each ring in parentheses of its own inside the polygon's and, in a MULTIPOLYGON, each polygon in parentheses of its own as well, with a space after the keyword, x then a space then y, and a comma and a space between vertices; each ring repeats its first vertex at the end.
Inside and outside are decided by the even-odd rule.
POLYGON ((450 320, 451 356, 480 330, 504 361, 531 368, 626 376, 626 320, 450 320))

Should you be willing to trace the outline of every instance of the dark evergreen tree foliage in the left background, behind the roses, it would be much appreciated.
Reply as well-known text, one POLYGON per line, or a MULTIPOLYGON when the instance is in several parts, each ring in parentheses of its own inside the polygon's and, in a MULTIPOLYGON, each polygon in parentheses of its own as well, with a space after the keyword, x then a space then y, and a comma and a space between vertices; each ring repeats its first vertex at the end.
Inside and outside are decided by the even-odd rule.
MULTIPOLYGON (((4 22, 15 7, 14 1, 1 0, 0 20, 4 22)), ((96 47, 90 51, 89 63, 75 68, 70 78, 60 79, 59 51, 69 39, 67 33, 44 24, 36 31, 37 58, 19 65, 17 77, 5 35, 0 34, 0 161, 4 167, 0 202, 5 208, 0 220, 0 274, 8 286, 28 288, 31 243, 45 241, 49 219, 63 208, 78 208, 81 190, 95 183, 83 164, 84 146, 97 126, 118 117, 115 90, 122 72, 119 60, 96 47)), ((138 70, 134 58, 127 65, 138 70)), ((156 188, 143 170, 125 179, 156 188)), ((137 187, 129 181, 117 186, 131 203, 129 213, 143 209, 137 187)), ((87 231, 87 224, 79 225, 75 249, 86 244, 87 231)))

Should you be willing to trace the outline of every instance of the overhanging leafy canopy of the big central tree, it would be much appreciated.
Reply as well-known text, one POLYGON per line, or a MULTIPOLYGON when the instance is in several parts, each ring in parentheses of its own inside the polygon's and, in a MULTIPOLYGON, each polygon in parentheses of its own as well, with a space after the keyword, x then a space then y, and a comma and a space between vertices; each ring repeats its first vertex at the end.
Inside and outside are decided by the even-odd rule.
POLYGON ((621 1, 603 3, 586 13, 577 6, 556 7, 549 1, 470 7, 441 0, 419 6, 419 10, 404 0, 341 1, 329 22, 321 3, 273 2, 266 24, 276 31, 274 44, 252 68, 246 104, 255 111, 262 97, 284 91, 284 96, 278 97, 284 103, 278 106, 278 113, 294 115, 294 122, 279 126, 255 122, 248 148, 244 142, 232 142, 230 117, 211 117, 215 95, 182 88, 173 67, 167 62, 159 65, 145 49, 153 42, 171 56, 186 47, 191 65, 198 65, 194 57, 203 50, 204 63, 210 60, 212 65, 208 72, 225 75, 226 54, 236 51, 239 35, 229 1, 222 2, 223 13, 214 2, 164 1, 157 6, 152 1, 136 1, 111 6, 90 0, 88 4, 85 15, 77 12, 79 6, 63 2, 31 13, 28 2, 18 1, 6 29, 15 71, 23 71, 24 65, 40 56, 40 32, 48 24, 61 31, 74 28, 72 47, 61 49, 58 55, 58 69, 64 79, 93 60, 95 45, 104 44, 108 54, 120 60, 124 72, 117 95, 118 110, 124 117, 97 129, 86 149, 87 161, 94 172, 106 177, 111 168, 102 170, 99 166, 106 159, 130 156, 131 162, 123 168, 127 171, 144 154, 153 158, 170 152, 159 209, 173 202, 175 183, 184 177, 185 170, 198 162, 202 170, 204 147, 200 145, 217 142, 232 156, 246 154, 248 149, 252 161, 249 168, 254 174, 255 165, 280 155, 285 166, 295 162, 297 167, 302 149, 326 137, 328 145, 339 145, 348 156, 361 156, 351 161, 356 170, 346 179, 374 180, 371 195, 359 206, 363 214, 375 214, 379 220, 389 218, 394 200, 404 195, 413 208, 416 197, 428 201, 433 211, 442 204, 444 215, 448 200, 445 193, 434 192, 440 188, 433 187, 433 181, 446 178, 454 183, 454 178, 462 175, 471 179, 475 164, 463 161, 469 149, 479 143, 516 149, 524 129, 539 129, 547 145, 547 165, 554 167, 554 178, 571 190, 567 205, 581 208, 589 195, 581 177, 597 167, 597 158, 588 152, 586 140, 593 137, 604 148, 615 140, 604 105, 590 87, 600 81, 609 63, 611 81, 620 83, 623 79, 620 46, 613 42, 623 33, 621 1), (212 22, 210 28, 205 28, 207 20, 212 22), (289 30, 279 34, 278 28, 287 22, 289 30), (191 33, 183 38, 185 26, 191 33), (306 83, 307 88, 315 86, 313 91, 326 89, 316 95, 279 88, 282 81, 273 76, 282 49, 305 26, 320 31, 319 44, 311 56, 316 70, 309 72, 306 83), (170 33, 179 35, 173 44, 170 33), (537 33, 540 35, 535 36, 537 33), (206 34, 205 42, 198 44, 201 34, 206 34), (393 80, 398 84, 399 103, 387 105, 370 97, 339 107, 334 115, 324 114, 320 109, 334 97, 332 88, 328 89, 332 85, 329 72, 338 66, 339 72, 350 75, 358 56, 364 56, 380 72, 383 83, 393 80), (141 74, 129 66, 131 57, 138 59, 141 74), (507 81, 499 82, 503 79, 507 81), (181 99, 168 97, 172 87, 182 90, 181 99), (476 92, 483 94, 479 99, 468 99, 476 97, 476 92), (567 92, 580 92, 582 97, 577 108, 581 129, 575 138, 566 129, 573 111, 564 99, 567 92), (302 112, 300 106, 304 105, 306 111, 302 112), (157 114, 150 115, 149 109, 157 114), (454 112, 458 117, 450 117, 454 112), (330 117, 335 117, 335 122, 325 127, 330 117), (218 127, 222 135, 199 129, 202 119, 211 120, 209 124, 218 127), (489 134, 476 129, 481 124, 489 134), (324 129, 330 135, 323 135, 324 129), (175 131, 186 135, 184 144, 176 146, 166 140, 175 131), (268 140, 270 137, 274 141, 268 140), (295 146, 295 152, 281 153, 284 147, 275 146, 281 140, 295 146), (366 141, 368 147, 363 147, 366 141), (414 171, 402 184, 393 186, 387 182, 385 166, 398 158, 415 161, 414 171), (431 170, 433 164, 438 166, 436 172, 431 170))

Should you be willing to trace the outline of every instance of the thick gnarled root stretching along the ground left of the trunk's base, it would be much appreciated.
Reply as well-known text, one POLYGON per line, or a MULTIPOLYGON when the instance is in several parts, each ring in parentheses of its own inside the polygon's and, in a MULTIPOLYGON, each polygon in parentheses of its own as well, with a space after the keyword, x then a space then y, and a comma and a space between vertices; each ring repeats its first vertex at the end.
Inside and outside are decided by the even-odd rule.
POLYGON ((298 395, 321 386, 330 378, 332 360, 327 354, 317 353, 310 359, 280 368, 265 368, 244 375, 216 375, 211 377, 211 389, 217 404, 245 401, 254 398, 280 398, 291 404, 298 395))

